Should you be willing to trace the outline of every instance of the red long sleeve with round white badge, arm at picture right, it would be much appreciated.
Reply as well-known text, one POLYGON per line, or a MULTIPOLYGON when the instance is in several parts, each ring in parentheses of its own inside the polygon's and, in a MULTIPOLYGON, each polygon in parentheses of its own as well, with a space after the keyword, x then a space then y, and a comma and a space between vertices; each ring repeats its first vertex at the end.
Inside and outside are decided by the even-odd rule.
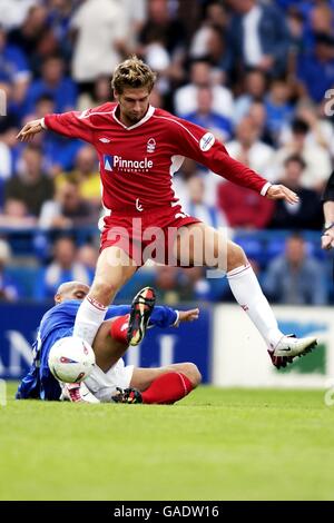
POLYGON ((170 118, 170 139, 175 142, 178 136, 178 154, 187 156, 219 176, 235 184, 261 193, 267 180, 245 165, 232 158, 223 144, 215 139, 212 132, 177 117, 170 118), (171 127, 173 126, 173 127, 171 127))

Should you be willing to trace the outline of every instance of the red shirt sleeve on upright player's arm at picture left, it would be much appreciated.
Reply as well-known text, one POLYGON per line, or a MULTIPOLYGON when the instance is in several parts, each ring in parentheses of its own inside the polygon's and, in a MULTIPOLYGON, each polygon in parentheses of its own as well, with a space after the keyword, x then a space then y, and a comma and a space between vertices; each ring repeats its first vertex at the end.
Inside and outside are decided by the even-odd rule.
POLYGON ((89 110, 70 111, 61 115, 47 115, 45 117, 46 127, 59 135, 69 138, 80 138, 91 144, 94 141, 94 130, 90 121, 89 110))

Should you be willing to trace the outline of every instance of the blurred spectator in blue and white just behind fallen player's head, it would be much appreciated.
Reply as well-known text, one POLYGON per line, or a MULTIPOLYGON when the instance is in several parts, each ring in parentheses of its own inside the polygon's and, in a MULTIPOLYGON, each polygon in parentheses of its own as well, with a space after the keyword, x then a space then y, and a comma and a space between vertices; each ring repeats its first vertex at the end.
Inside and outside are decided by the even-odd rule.
POLYGON ((60 284, 71 280, 89 285, 89 274, 77 260, 77 247, 73 240, 62 237, 55 243, 53 260, 42 269, 38 278, 35 298, 51 299, 60 284))

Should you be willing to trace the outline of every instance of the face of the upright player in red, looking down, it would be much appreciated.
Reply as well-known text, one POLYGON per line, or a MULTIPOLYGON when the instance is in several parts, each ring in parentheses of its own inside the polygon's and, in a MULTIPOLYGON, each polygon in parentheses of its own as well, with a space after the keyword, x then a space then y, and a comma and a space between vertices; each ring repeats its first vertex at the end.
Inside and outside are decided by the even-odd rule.
POLYGON ((126 126, 134 126, 144 118, 149 106, 149 91, 146 88, 127 88, 121 95, 115 92, 119 103, 120 121, 126 126))

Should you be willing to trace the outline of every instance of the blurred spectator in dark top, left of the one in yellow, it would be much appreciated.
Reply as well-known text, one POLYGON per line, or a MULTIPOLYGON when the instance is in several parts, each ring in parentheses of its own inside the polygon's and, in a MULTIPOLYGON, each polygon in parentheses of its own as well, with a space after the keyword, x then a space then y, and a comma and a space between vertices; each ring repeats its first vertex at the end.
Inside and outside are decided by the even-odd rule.
POLYGON ((28 145, 22 154, 19 175, 6 182, 4 198, 22 201, 28 214, 38 217, 42 204, 52 197, 53 181, 42 172, 41 150, 28 145))

